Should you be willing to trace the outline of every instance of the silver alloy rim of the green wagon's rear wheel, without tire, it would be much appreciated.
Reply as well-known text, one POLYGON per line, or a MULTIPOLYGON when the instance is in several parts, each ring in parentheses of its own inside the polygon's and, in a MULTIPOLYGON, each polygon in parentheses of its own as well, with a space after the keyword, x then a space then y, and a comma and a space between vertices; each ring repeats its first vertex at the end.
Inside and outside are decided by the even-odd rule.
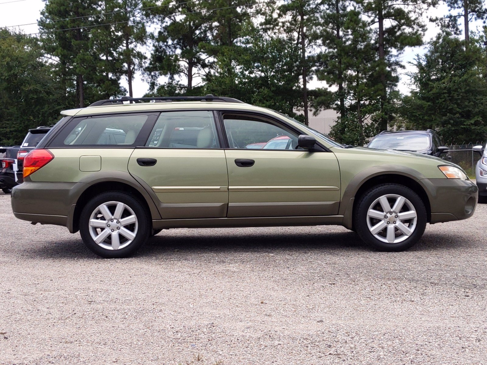
POLYGON ((107 250, 119 250, 130 245, 139 227, 131 207, 120 201, 98 205, 88 224, 93 240, 107 250))

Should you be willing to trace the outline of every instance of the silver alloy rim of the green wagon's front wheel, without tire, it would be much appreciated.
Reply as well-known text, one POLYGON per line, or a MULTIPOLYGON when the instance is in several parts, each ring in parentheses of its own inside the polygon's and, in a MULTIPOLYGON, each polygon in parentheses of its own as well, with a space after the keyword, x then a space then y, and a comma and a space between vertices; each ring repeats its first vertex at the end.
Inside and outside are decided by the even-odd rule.
POLYGON ((375 238, 386 243, 399 243, 412 235, 417 213, 411 201, 396 194, 377 198, 367 211, 367 226, 375 238))

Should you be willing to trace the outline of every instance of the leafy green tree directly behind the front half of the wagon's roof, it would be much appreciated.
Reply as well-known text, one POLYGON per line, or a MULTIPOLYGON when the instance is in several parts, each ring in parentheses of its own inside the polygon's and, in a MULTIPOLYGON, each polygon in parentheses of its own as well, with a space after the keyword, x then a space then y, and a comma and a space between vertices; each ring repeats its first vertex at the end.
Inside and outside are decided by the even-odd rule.
POLYGON ((246 32, 240 47, 219 53, 218 77, 207 80, 206 91, 297 116, 293 109, 300 105, 301 90, 296 54, 281 37, 253 27, 246 32))

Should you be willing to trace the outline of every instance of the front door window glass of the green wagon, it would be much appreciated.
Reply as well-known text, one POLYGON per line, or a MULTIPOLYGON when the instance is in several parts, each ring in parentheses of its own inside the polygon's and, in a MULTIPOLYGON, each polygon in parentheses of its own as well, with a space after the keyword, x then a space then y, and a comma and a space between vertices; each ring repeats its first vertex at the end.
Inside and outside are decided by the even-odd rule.
POLYGON ((297 149, 298 136, 270 120, 225 114, 223 122, 230 148, 297 149))

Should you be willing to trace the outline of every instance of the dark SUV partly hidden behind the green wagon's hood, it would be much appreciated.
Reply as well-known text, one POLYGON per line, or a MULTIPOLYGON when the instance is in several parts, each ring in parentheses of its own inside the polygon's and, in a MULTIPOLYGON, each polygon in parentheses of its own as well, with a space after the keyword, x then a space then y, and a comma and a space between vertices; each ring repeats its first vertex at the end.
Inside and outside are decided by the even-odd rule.
POLYGON ((435 157, 448 152, 448 147, 443 146, 440 136, 432 129, 383 131, 377 134, 367 147, 416 152, 435 157))

